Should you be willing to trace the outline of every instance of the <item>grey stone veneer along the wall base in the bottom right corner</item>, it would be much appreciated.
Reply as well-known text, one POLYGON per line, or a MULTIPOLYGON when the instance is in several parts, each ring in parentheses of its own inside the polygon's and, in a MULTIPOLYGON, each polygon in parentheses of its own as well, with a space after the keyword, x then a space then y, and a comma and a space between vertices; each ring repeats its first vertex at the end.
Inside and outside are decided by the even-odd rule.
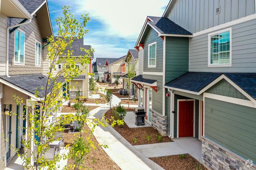
POLYGON ((202 163, 210 170, 256 170, 256 165, 206 137, 202 137, 202 163))

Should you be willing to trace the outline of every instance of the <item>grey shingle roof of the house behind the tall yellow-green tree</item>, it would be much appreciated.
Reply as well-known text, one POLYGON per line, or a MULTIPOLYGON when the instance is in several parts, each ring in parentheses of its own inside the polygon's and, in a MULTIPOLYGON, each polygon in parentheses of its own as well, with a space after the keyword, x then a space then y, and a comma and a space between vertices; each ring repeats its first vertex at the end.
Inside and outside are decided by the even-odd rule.
MULTIPOLYGON (((54 38, 56 39, 56 37, 54 38)), ((83 38, 75 38, 71 44, 71 48, 67 46, 64 53, 67 53, 68 50, 73 50, 72 56, 87 55, 86 51, 81 51, 81 48, 91 51, 91 45, 83 45, 83 38)), ((89 55, 91 55, 91 57, 94 57, 93 52, 91 52, 89 55)))

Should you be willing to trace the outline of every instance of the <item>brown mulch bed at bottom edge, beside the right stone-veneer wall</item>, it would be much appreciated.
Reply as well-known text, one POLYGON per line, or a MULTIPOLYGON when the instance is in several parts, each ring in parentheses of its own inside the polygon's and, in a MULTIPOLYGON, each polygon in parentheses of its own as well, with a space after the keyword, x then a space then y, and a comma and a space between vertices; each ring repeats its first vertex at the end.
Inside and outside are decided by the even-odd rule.
MULTIPOLYGON (((197 170, 198 161, 189 154, 185 154, 184 158, 181 155, 171 155, 166 157, 149 158, 165 170, 197 170)), ((207 170, 202 164, 200 170, 207 170)))

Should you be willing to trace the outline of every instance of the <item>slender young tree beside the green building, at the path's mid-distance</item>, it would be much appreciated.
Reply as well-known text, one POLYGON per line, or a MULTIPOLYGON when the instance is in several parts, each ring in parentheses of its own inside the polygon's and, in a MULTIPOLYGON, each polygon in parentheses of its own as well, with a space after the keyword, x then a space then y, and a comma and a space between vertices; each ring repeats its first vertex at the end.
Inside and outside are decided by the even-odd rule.
POLYGON ((127 66, 125 68, 125 71, 127 73, 126 77, 127 79, 124 79, 124 81, 126 81, 126 88, 128 89, 128 108, 130 105, 130 91, 132 88, 132 82, 131 79, 135 77, 136 75, 136 71, 137 71, 137 61, 135 61, 134 63, 132 62, 132 56, 130 55, 128 57, 127 62, 127 66))

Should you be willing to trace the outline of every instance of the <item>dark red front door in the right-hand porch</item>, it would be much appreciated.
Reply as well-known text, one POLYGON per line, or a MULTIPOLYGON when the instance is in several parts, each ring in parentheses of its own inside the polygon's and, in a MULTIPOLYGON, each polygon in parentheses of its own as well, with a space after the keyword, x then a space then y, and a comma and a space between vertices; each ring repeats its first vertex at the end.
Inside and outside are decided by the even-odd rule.
POLYGON ((179 137, 194 135, 194 101, 179 101, 179 137))

